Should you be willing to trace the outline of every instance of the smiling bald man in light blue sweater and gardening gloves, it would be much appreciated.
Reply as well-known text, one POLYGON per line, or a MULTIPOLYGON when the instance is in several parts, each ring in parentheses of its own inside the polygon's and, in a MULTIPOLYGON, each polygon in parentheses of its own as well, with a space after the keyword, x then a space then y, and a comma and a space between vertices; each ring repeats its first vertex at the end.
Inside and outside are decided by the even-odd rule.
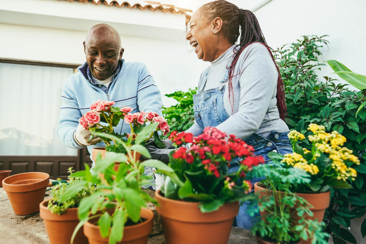
MULTIPOLYGON (((78 119, 90 111, 91 104, 98 99, 109 100, 116 102, 116 107, 133 108, 131 113, 151 111, 161 115, 161 95, 145 64, 122 59, 120 35, 112 26, 91 27, 83 44, 86 62, 64 83, 57 134, 66 146, 87 146, 91 153, 92 147, 105 146, 100 138, 89 140, 90 132, 79 125, 78 119)), ((123 121, 114 129, 119 134, 131 133, 123 121)))

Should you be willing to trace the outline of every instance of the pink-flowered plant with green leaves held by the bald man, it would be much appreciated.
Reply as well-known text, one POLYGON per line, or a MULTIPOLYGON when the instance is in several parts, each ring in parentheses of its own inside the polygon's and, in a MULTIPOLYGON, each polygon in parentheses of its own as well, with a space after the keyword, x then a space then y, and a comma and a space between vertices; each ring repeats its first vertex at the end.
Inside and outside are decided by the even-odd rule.
POLYGON ((145 144, 148 140, 154 138, 154 142, 158 147, 165 147, 165 144, 161 141, 158 135, 158 131, 162 131, 163 135, 167 135, 170 131, 169 125, 163 117, 154 112, 141 111, 132 114, 130 113, 133 110, 132 108, 118 108, 112 106, 114 104, 115 102, 113 101, 98 100, 90 106, 90 111, 86 112, 79 119, 79 124, 81 124, 86 130, 90 131, 91 138, 95 136, 96 133, 99 133, 98 136, 107 145, 105 148, 96 147, 92 149, 92 159, 94 161, 98 153, 101 153, 102 157, 104 157, 105 151, 126 153, 124 147, 118 143, 116 139, 108 137, 108 135, 116 136, 119 139, 126 138, 123 139, 125 142, 127 138, 131 136, 131 144, 135 144, 137 134, 150 123, 156 123, 158 125, 154 131, 139 143, 145 144), (113 126, 117 126, 120 123, 120 120, 124 120, 124 122, 130 125, 131 134, 124 133, 123 135, 120 135, 114 131, 113 126))

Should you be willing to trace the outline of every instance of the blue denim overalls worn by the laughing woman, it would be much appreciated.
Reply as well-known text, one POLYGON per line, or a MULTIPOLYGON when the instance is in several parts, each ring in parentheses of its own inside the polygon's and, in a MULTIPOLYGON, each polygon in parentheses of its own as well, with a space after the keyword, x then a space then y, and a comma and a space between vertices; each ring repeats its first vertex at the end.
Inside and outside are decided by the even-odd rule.
MULTIPOLYGON (((227 67, 231 62, 232 59, 229 59, 227 67)), ((206 72, 204 79, 202 80, 203 84, 199 84, 197 94, 193 95, 194 118, 202 129, 208 126, 215 127, 229 118, 224 106, 225 83, 229 76, 228 70, 226 70, 223 79, 220 81, 219 87, 203 91, 206 86, 208 74, 209 71, 206 72)), ((264 157, 265 163, 267 163, 270 161, 267 154, 271 151, 282 154, 292 153, 291 142, 287 138, 287 134, 288 132, 278 133, 276 131, 272 131, 268 138, 264 138, 263 136, 254 133, 249 136, 245 142, 253 146, 255 154, 264 157)), ((229 168, 229 173, 237 171, 238 169, 238 161, 233 161, 229 168)), ((253 178, 251 179, 251 182, 254 184, 262 179, 263 178, 261 177, 253 178)), ((259 216, 259 213, 255 217, 251 217, 246 213, 247 207, 249 206, 251 206, 249 202, 244 202, 240 206, 239 213, 236 216, 236 226, 239 228, 251 229, 255 224, 254 221, 258 219, 257 217, 259 216)))

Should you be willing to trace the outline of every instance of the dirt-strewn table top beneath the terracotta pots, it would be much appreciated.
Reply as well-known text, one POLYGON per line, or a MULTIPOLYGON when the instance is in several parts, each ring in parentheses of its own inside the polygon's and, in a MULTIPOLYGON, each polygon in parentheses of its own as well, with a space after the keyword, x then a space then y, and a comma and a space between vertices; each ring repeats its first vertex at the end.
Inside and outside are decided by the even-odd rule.
MULTIPOLYGON (((45 200, 51 198, 49 194, 50 191, 47 191, 45 200)), ((0 243, 49 244, 43 219, 40 217, 39 212, 25 216, 15 215, 8 196, 2 187, 0 187, 0 243)), ((257 241, 249 230, 232 227, 228 244, 255 243, 257 241)), ((165 244, 164 234, 150 236, 147 244, 165 244)))

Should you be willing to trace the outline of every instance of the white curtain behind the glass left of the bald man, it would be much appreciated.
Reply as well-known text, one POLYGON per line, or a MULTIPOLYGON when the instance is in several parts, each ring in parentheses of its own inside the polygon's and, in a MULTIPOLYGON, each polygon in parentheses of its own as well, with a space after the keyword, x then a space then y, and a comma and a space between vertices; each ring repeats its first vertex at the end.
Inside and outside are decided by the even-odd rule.
POLYGON ((0 63, 0 155, 74 156, 57 136, 72 68, 0 63))

